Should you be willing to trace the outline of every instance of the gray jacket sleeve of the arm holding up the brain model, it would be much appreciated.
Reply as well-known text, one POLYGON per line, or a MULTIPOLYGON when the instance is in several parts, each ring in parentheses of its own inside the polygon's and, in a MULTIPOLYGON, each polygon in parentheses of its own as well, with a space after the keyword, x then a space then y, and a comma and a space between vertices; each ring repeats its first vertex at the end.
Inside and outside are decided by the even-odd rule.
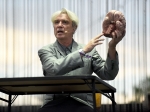
POLYGON ((116 52, 115 60, 111 60, 107 56, 105 61, 95 50, 92 56, 92 69, 101 79, 113 80, 119 71, 118 53, 116 52))

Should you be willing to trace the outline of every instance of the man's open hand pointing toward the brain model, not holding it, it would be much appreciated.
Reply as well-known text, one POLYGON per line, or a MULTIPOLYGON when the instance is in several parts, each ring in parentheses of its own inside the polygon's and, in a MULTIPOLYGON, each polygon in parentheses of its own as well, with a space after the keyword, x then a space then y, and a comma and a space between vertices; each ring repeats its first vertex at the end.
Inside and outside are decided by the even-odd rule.
POLYGON ((88 52, 92 51, 95 46, 102 44, 103 41, 104 41, 104 38, 101 38, 101 37, 102 37, 103 35, 104 35, 104 34, 102 33, 102 34, 100 34, 100 35, 98 35, 98 36, 92 38, 92 39, 89 41, 89 43, 83 48, 83 51, 84 51, 85 53, 88 53, 88 52))

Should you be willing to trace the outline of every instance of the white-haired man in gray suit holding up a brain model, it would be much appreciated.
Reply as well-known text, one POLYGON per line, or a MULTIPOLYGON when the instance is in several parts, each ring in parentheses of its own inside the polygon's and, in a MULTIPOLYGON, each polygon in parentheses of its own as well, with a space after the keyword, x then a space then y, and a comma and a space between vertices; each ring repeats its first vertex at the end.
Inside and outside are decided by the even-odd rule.
MULTIPOLYGON (((116 77, 119 70, 116 45, 122 37, 112 38, 104 61, 94 48, 103 43, 103 33, 82 45, 73 39, 78 27, 78 18, 73 12, 62 9, 55 12, 51 20, 56 42, 38 51, 45 76, 90 76, 95 72, 103 80, 116 77)), ((92 103, 91 94, 50 94, 38 112, 93 112, 92 103)))

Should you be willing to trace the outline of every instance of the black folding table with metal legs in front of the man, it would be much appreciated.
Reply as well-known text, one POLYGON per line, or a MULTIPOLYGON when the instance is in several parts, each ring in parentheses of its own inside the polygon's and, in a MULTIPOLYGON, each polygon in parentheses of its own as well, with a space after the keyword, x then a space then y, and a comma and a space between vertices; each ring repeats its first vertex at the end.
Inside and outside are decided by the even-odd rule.
POLYGON ((101 93, 112 101, 115 112, 116 89, 96 76, 0 78, 0 92, 9 96, 8 99, 0 97, 0 100, 8 102, 8 112, 11 112, 11 104, 18 95, 63 93, 93 93, 94 112, 96 112, 95 93, 101 93))

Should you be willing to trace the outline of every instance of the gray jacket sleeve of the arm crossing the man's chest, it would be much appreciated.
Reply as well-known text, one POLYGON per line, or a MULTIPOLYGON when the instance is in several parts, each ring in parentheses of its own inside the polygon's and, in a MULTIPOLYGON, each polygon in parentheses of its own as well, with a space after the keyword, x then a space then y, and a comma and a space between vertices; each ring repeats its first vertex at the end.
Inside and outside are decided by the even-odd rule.
POLYGON ((56 56, 56 51, 51 48, 40 49, 38 55, 42 63, 44 75, 46 76, 64 75, 83 66, 78 50, 59 59, 56 56))

